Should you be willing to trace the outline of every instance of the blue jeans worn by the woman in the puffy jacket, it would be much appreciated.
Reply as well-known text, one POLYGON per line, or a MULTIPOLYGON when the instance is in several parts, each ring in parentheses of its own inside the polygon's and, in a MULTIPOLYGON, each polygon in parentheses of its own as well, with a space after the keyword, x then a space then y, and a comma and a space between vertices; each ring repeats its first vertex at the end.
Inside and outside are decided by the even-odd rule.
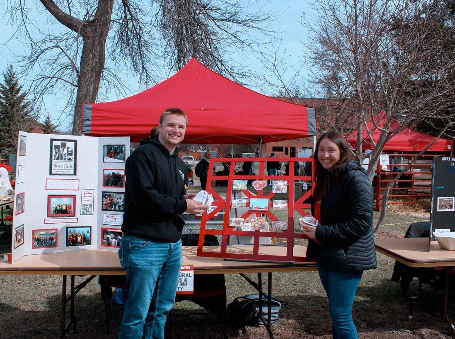
POLYGON ((358 339, 357 329, 352 321, 352 304, 363 271, 332 271, 321 268, 318 260, 318 272, 329 298, 334 339, 358 339))

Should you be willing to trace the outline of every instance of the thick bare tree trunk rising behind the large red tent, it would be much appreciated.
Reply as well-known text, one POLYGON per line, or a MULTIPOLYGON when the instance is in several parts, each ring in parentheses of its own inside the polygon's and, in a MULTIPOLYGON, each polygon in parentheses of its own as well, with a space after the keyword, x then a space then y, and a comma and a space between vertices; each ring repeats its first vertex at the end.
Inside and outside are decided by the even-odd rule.
POLYGON ((72 135, 81 135, 82 105, 96 101, 106 61, 106 39, 113 5, 113 0, 100 0, 95 19, 88 23, 88 27, 82 33, 84 46, 82 47, 81 71, 77 79, 72 135), (101 8, 103 10, 100 10, 101 8))

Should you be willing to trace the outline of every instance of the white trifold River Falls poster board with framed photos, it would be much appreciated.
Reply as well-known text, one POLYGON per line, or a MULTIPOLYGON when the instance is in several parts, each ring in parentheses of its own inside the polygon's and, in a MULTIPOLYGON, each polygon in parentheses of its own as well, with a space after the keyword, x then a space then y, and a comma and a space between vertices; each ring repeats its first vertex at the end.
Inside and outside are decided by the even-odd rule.
POLYGON ((129 137, 19 133, 12 260, 118 250, 129 137))

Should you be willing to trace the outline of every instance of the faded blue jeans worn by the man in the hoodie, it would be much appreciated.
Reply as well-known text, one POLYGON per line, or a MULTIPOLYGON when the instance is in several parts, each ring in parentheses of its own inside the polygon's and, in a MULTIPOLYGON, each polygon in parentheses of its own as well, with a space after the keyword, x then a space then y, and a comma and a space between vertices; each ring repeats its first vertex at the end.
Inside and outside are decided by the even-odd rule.
POLYGON ((163 339, 182 266, 182 241, 163 243, 124 234, 118 256, 129 293, 119 339, 163 339))

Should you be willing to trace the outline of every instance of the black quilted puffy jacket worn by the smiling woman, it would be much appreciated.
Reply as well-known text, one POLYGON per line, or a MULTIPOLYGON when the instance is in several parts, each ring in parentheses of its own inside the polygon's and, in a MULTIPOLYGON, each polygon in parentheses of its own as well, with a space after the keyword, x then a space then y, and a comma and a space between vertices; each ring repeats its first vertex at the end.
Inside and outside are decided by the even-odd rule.
POLYGON ((307 258, 319 257, 322 268, 334 271, 376 268, 372 219, 373 187, 364 168, 350 160, 321 199, 321 224, 316 228, 321 245, 308 240, 307 258))

